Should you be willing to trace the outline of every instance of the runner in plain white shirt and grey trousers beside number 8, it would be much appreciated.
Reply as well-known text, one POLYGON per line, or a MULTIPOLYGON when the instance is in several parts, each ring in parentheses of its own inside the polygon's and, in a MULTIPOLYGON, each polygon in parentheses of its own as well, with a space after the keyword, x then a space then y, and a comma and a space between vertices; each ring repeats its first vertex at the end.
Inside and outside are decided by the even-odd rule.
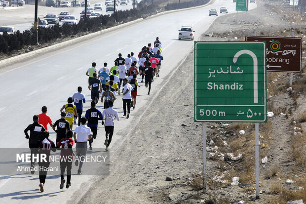
POLYGON ((77 174, 82 174, 82 165, 87 153, 87 141, 91 139, 92 133, 89 127, 86 125, 87 119, 81 118, 81 125, 77 126, 74 133, 74 139, 76 141, 76 161, 75 165, 78 166, 77 174))

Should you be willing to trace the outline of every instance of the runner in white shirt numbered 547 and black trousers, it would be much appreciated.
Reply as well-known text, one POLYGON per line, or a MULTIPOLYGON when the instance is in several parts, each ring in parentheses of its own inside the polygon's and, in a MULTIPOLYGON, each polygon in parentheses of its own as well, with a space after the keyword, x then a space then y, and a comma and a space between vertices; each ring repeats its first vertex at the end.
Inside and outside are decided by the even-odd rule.
MULTIPOLYGON (((113 109, 113 103, 109 102, 109 108, 104 109, 102 113, 103 119, 105 118, 105 137, 106 140, 104 142, 104 145, 106 145, 105 150, 110 151, 109 146, 112 142, 112 137, 114 133, 114 118, 116 117, 117 121, 120 121, 118 112, 113 109)), ((104 124, 104 121, 102 119, 102 124, 104 124)))

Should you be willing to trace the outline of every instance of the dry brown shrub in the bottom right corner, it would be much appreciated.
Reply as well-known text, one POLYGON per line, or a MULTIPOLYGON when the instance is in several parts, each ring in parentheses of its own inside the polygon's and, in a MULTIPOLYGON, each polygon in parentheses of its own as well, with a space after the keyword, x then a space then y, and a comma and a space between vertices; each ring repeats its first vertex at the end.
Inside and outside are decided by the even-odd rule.
POLYGON ((270 203, 286 204, 287 201, 296 201, 300 199, 306 201, 306 177, 302 177, 296 181, 297 183, 295 185, 298 187, 302 187, 301 190, 288 190, 284 188, 279 182, 272 184, 270 187, 270 191, 278 193, 278 195, 271 197, 270 203))

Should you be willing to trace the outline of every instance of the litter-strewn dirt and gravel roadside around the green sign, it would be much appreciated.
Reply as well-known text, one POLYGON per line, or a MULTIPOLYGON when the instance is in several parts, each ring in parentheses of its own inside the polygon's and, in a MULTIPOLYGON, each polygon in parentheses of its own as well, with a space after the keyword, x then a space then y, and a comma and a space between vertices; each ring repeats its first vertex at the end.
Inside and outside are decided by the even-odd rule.
MULTIPOLYGON (((284 15, 269 10, 280 6, 279 2, 266 5, 258 0, 257 3, 258 8, 247 13, 249 20, 240 20, 235 25, 236 14, 220 17, 206 32, 213 33, 212 37, 203 36, 202 40, 241 40, 245 35, 253 35, 255 29, 263 35, 288 34, 289 37, 288 28, 293 25, 282 20, 284 15), (286 28, 288 31, 284 32, 286 28)), ((239 13, 238 19, 244 16, 245 13, 239 13)), ((255 202, 254 123, 207 123, 207 145, 219 149, 207 152, 208 194, 201 193, 202 125, 193 122, 193 54, 165 81, 165 87, 150 104, 134 133, 115 153, 110 175, 94 181, 79 203, 255 202), (241 129, 245 130, 244 135, 238 133, 241 129), (242 158, 236 160, 227 153, 234 157, 242 154, 242 158), (216 176, 220 176, 219 180, 216 176), (237 186, 231 185, 234 176, 240 178, 237 186), (166 177, 171 177, 171 181, 166 177)), ((293 147, 300 142, 299 150, 305 152, 306 141, 302 136, 302 140, 296 140, 292 135, 295 126, 306 128, 301 120, 306 110, 305 78, 305 73, 295 74, 293 92, 286 92, 289 74, 268 73, 268 111, 274 112, 274 117, 260 124, 260 161, 267 157, 268 162, 260 167, 261 199, 257 203, 283 203, 299 195, 300 199, 304 198, 305 164, 298 162, 293 147), (287 179, 294 183, 287 183, 287 179)))

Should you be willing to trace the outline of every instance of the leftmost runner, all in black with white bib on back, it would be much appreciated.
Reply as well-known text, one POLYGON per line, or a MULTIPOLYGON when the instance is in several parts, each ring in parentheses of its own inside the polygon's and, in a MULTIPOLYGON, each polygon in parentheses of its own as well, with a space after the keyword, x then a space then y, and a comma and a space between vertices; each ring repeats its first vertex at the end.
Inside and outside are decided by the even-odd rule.
POLYGON ((26 139, 29 139, 29 147, 31 150, 31 174, 35 173, 34 165, 35 161, 32 160, 32 155, 35 156, 38 154, 39 142, 42 138, 42 132, 45 131, 45 128, 42 124, 38 123, 38 115, 33 116, 33 123, 24 130, 26 134, 26 139), (30 136, 28 131, 30 130, 30 136))

